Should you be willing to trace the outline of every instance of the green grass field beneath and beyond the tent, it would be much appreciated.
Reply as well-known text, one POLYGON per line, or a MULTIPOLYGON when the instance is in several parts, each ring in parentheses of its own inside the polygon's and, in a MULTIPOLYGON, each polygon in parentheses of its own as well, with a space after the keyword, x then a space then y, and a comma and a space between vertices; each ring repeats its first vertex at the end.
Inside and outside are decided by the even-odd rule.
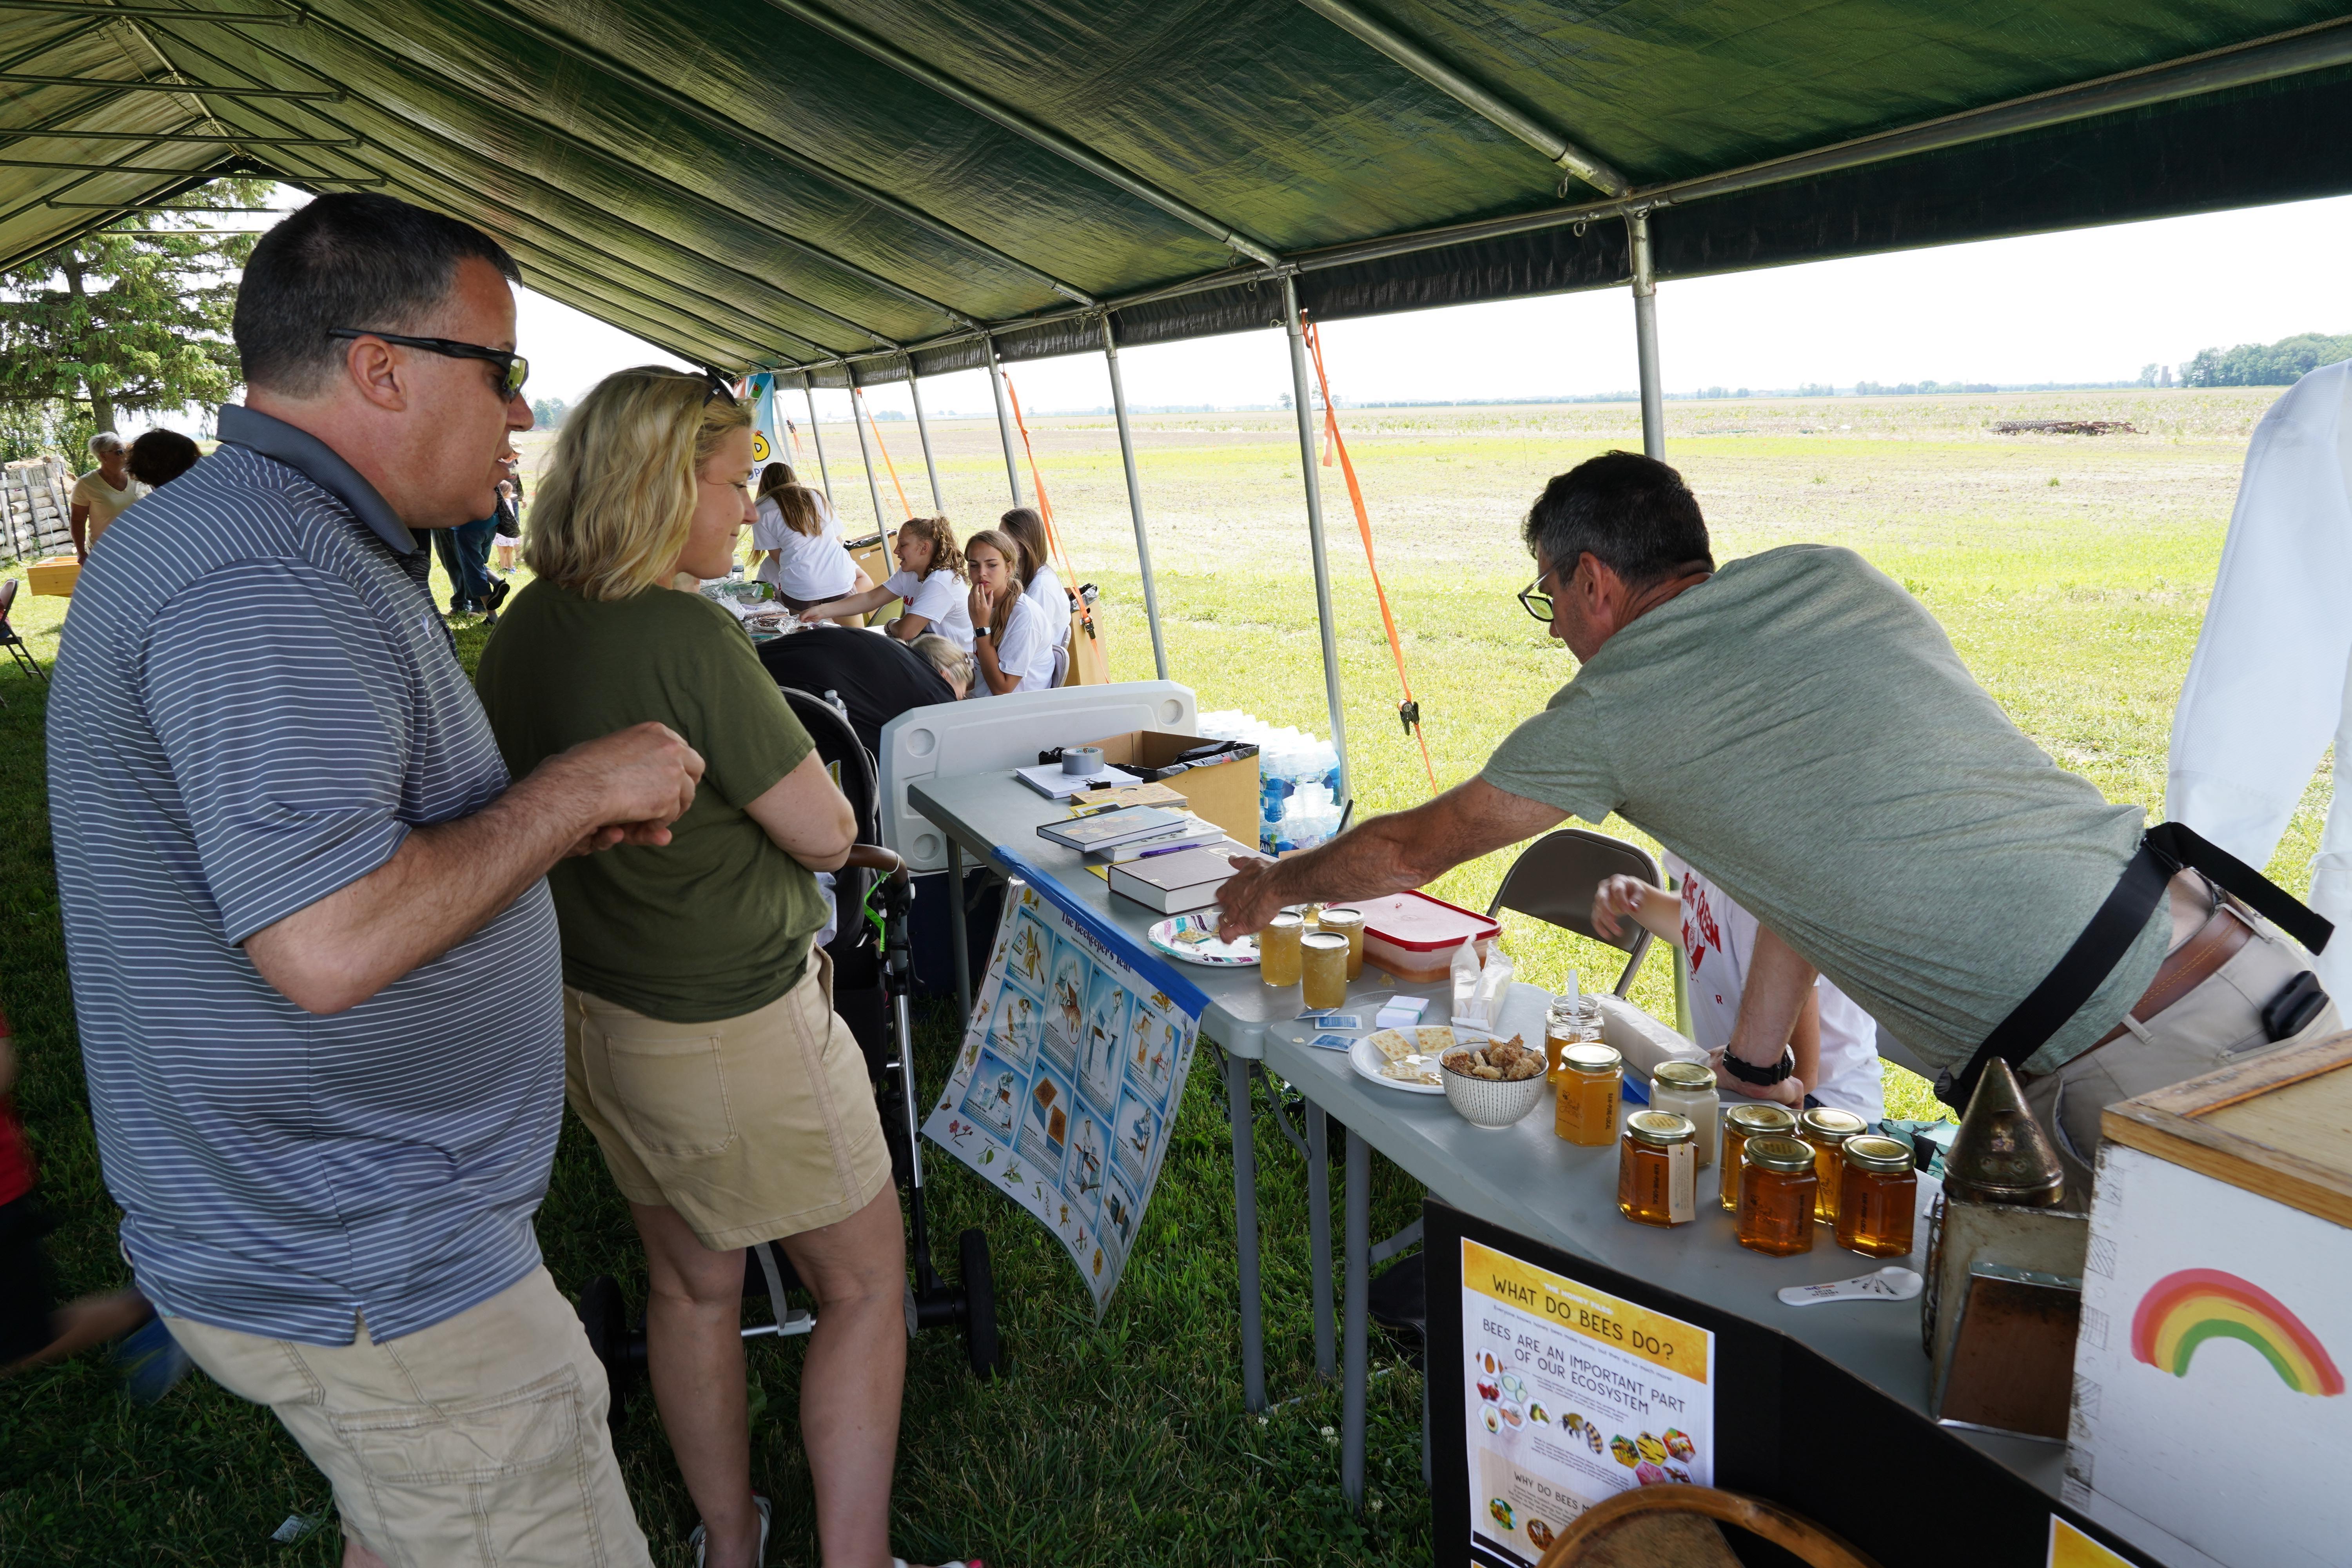
MULTIPOLYGON (((1345 390, 1345 364, 1334 364, 1345 390)), ((1708 508, 1717 555, 1785 541, 1863 550, 1950 630, 1976 675, 2065 766, 2112 799, 2161 804, 2173 693, 2187 668, 2246 435, 2274 393, 2098 393, 2039 397, 1757 400, 1670 407, 1670 458, 1708 508), (1994 437, 1997 416, 2133 418, 2145 435, 1994 437)), ((1035 425, 1040 461, 1082 581, 1101 583, 1112 672, 1150 675, 1134 543, 1108 418, 1035 425)), ((1569 677, 1571 661, 1512 604, 1529 567, 1515 524, 1543 480, 1592 451, 1639 447, 1616 404, 1374 409, 1348 414, 1383 574, 1406 632, 1442 783, 1569 677)), ((901 477, 927 498, 908 425, 884 425, 901 477)), ((946 510, 962 529, 1004 505, 993 425, 936 430, 946 510)), ((1202 708, 1247 708, 1322 731, 1298 444, 1287 414, 1138 421, 1143 489, 1171 675, 1202 708)), ((534 447, 539 442, 534 440, 534 447)), ((828 430, 844 517, 868 517, 847 430, 828 430)), ((1336 470, 1327 475, 1348 733, 1362 809, 1428 785, 1395 722, 1395 672, 1336 470)), ((884 494, 889 484, 884 480, 884 494)), ((896 510, 896 503, 891 503, 896 510)), ((19 602, 47 663, 64 602, 19 602)), ((482 632, 459 635, 468 658, 482 632)), ((115 1213, 99 1180, 49 867, 40 766, 42 691, 0 670, 0 1001, 24 1056, 19 1107, 59 1213, 68 1291, 122 1281, 115 1213)), ((2272 860, 2303 889, 2326 813, 2326 776, 2272 860)), ((1623 823, 1613 832, 1628 832, 1623 823)), ((1439 891, 1484 905, 1505 856, 1439 891)), ((1597 947, 1524 924, 1508 933, 1529 978, 1573 966, 1613 978, 1597 947)), ((1670 1011, 1663 959, 1637 999, 1670 1011)), ((924 1081, 938 1081, 953 1020, 922 1020, 924 1081)), ((1145 1239, 1101 1324, 1040 1227, 957 1168, 934 1164, 941 1232, 985 1225, 997 1253, 1011 1373, 976 1387, 953 1342, 913 1349, 898 1483, 898 1549, 962 1552, 1011 1568, 1080 1563, 1418 1563, 1430 1509, 1418 1476, 1418 1378, 1374 1382, 1369 1509, 1338 1497, 1336 1392, 1312 1371, 1305 1182, 1261 1119, 1268 1359, 1265 1420, 1240 1399, 1230 1161, 1214 1074, 1195 1074, 1145 1239)), ((1378 1161, 1376 1161, 1378 1166, 1378 1161)), ((1376 1178, 1374 1225, 1411 1215, 1418 1190, 1376 1178)), ((1378 1232, 1376 1232, 1378 1234, 1378 1232)), ((541 1239, 555 1279, 614 1272, 642 1300, 628 1218, 576 1124, 567 1126, 541 1239)), ((1395 1352, 1376 1345, 1378 1361, 1395 1352)), ((755 1347, 755 1469, 779 1500, 771 1561, 816 1563, 793 1399, 797 1345, 755 1347)), ((691 1505, 647 1399, 621 1453, 656 1561, 684 1563, 691 1505)), ((327 1488, 263 1413, 205 1380, 153 1410, 129 1408, 94 1363, 0 1387, 0 1563, 332 1563, 332 1526, 280 1547, 289 1514, 327 1512, 327 1488)))

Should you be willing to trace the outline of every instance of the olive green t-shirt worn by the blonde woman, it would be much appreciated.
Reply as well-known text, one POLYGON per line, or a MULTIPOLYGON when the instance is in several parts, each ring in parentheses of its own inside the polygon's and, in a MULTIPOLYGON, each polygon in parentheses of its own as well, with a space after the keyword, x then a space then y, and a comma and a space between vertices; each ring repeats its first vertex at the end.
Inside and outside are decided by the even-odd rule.
POLYGON ((800 766, 811 741, 734 616, 673 588, 586 599, 539 581, 499 618, 475 689, 515 778, 647 719, 703 755, 668 844, 621 844, 548 872, 569 985, 649 1018, 708 1023, 800 980, 823 893, 743 806, 800 766))

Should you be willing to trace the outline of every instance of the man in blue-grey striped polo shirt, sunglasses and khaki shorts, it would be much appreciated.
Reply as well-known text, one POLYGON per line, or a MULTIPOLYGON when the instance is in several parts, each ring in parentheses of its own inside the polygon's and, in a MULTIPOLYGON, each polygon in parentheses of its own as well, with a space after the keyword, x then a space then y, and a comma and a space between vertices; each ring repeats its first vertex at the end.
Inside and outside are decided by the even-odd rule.
POLYGON ((666 844, 701 759, 640 724, 510 780, 433 611, 419 534, 487 517, 532 423, 513 277, 381 195, 273 228, 247 407, 115 522, 49 698, 122 1251, 327 1472, 362 1566, 649 1561, 532 1232, 564 1095, 543 877, 666 844))

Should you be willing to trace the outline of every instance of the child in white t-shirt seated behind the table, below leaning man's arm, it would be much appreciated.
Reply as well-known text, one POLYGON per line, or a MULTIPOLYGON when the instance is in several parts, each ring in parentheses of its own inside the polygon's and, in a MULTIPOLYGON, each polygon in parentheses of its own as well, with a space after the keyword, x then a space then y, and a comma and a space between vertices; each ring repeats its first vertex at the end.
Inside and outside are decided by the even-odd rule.
MULTIPOLYGON (((1691 997, 1691 1032, 1705 1051, 1731 1044, 1731 1025, 1740 1016, 1748 990, 1748 959, 1757 945, 1757 917, 1731 903, 1731 896, 1668 856, 1668 875, 1679 893, 1651 886, 1639 877, 1609 877, 1592 893, 1592 926, 1613 936, 1618 917, 1630 914, 1651 933, 1665 938, 1689 964, 1684 971, 1691 997)), ((1877 1121, 1886 1114, 1879 1081, 1879 1025, 1846 992, 1820 976, 1788 1044, 1797 1051, 1797 1081, 1806 1105, 1830 1105, 1877 1121)))

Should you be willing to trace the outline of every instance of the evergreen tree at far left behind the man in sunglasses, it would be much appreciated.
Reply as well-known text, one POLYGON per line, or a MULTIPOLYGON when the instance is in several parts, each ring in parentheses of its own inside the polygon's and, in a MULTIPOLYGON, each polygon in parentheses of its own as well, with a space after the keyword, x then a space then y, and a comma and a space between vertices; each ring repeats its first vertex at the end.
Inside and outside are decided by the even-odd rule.
MULTIPOLYGON (((221 179, 172 205, 256 207, 268 190, 266 179, 221 179)), ((78 461, 120 414, 230 397, 228 317, 256 235, 188 223, 136 212, 0 273, 0 444, 54 444, 78 461)))

